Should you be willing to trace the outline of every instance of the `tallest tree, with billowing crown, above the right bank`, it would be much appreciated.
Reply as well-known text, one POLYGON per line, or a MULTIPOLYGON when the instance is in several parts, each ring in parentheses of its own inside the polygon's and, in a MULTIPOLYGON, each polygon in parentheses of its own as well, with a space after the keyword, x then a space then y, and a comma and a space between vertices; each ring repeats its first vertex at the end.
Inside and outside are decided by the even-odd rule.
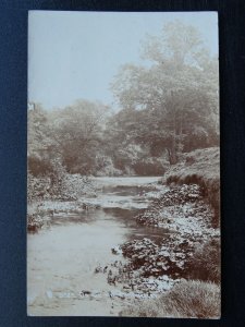
POLYGON ((151 155, 166 150, 170 164, 183 149, 215 145, 218 61, 198 32, 179 21, 168 23, 161 37, 146 40, 144 57, 151 60, 149 68, 126 64, 112 83, 121 117, 128 116, 126 137, 149 145, 151 155))

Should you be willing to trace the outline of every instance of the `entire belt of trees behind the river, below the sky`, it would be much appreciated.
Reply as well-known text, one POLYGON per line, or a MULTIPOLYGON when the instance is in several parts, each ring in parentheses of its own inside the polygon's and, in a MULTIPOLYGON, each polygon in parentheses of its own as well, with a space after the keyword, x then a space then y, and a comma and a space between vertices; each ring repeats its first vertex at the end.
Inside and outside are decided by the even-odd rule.
POLYGON ((111 82, 117 108, 28 104, 30 175, 161 175, 183 153, 219 145, 218 58, 198 32, 168 23, 140 56, 144 66, 125 63, 111 82))

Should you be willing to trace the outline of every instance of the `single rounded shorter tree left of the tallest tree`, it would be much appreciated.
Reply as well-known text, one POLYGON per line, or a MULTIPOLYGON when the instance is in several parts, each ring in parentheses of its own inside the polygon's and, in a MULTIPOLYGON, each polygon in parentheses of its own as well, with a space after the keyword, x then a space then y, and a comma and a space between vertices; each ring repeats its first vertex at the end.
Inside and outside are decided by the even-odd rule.
POLYGON ((53 114, 52 137, 69 172, 93 172, 107 111, 101 104, 78 100, 53 114))

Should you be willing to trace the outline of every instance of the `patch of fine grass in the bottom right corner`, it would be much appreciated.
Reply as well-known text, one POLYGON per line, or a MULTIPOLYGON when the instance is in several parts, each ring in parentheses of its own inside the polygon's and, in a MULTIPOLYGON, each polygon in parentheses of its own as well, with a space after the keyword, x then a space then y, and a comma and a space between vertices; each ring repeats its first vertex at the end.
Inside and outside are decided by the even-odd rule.
POLYGON ((121 316, 219 318, 220 288, 212 282, 182 280, 166 294, 124 310, 121 316))

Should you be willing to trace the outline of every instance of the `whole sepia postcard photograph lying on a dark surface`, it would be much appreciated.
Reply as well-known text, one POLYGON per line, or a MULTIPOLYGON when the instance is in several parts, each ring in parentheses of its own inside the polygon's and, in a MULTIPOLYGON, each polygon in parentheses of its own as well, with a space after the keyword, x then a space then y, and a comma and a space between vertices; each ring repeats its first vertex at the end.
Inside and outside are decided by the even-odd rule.
POLYGON ((221 317, 217 12, 28 12, 28 316, 221 317))

